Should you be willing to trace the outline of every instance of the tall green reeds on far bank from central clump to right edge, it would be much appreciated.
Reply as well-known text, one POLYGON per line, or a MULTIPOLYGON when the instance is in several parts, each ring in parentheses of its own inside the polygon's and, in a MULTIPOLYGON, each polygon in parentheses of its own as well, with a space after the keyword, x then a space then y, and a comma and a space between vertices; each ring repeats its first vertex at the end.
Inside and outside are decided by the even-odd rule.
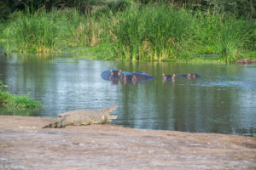
POLYGON ((108 23, 118 59, 187 60, 195 54, 218 54, 219 60, 232 62, 244 51, 255 50, 255 20, 218 12, 135 5, 108 23))

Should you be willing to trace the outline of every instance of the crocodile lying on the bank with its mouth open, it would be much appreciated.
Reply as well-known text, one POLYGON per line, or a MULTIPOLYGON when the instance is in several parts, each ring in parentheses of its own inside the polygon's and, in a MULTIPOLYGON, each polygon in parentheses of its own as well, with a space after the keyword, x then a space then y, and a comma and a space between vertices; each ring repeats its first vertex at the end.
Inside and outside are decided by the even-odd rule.
POLYGON ((111 116, 109 113, 114 111, 118 105, 112 105, 102 110, 78 110, 78 111, 68 111, 57 115, 56 122, 49 123, 48 127, 66 127, 66 126, 80 126, 80 125, 90 125, 90 124, 104 124, 107 122, 112 122, 117 116, 111 116))

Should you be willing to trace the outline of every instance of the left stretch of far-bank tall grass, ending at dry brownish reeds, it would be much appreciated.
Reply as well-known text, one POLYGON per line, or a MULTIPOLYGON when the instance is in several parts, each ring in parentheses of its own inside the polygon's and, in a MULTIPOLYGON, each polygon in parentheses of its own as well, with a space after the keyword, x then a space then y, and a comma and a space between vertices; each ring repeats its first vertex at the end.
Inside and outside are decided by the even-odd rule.
POLYGON ((100 42, 100 22, 74 8, 14 15, 19 17, 10 23, 4 34, 15 41, 20 52, 48 52, 57 50, 58 46, 94 47, 100 42))

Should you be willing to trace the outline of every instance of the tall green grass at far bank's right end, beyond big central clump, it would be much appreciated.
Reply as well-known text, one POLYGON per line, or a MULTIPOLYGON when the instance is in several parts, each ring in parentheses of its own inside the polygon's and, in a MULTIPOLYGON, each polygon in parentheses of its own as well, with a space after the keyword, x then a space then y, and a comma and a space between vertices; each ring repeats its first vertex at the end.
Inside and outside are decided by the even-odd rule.
POLYGON ((242 52, 255 50, 255 20, 235 19, 218 13, 196 13, 197 54, 218 54, 225 62, 237 60, 242 52))

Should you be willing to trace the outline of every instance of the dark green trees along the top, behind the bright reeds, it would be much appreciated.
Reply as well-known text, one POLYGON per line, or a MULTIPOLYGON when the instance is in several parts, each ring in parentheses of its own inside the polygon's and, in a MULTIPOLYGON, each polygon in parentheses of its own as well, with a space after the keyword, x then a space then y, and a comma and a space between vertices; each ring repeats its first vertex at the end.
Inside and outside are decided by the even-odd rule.
POLYGON ((7 19, 9 14, 29 8, 31 14, 38 13, 44 6, 47 10, 52 8, 77 8, 84 14, 95 9, 106 7, 113 12, 124 10, 131 3, 160 3, 181 8, 189 8, 194 11, 218 11, 219 14, 232 14, 236 17, 255 19, 255 5, 253 0, 2 0, 0 2, 0 20, 7 19))

